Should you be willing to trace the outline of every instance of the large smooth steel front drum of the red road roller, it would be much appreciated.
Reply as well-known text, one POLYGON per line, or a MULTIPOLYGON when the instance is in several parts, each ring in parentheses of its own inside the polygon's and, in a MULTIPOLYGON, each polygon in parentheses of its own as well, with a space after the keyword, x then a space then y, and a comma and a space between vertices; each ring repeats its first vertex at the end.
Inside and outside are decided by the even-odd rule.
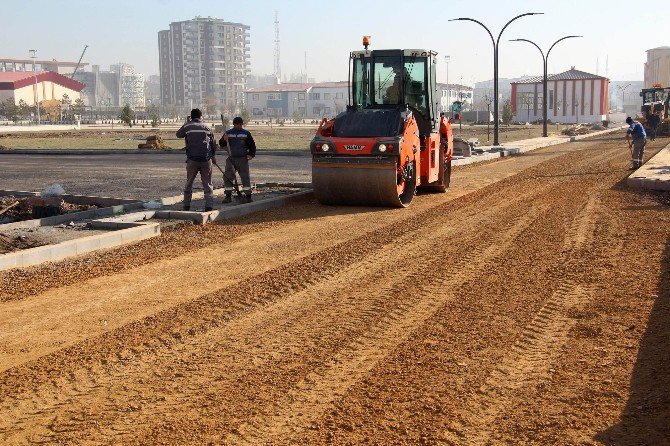
POLYGON ((397 166, 397 158, 314 158, 314 195, 322 204, 406 207, 416 176, 399 175, 397 166))

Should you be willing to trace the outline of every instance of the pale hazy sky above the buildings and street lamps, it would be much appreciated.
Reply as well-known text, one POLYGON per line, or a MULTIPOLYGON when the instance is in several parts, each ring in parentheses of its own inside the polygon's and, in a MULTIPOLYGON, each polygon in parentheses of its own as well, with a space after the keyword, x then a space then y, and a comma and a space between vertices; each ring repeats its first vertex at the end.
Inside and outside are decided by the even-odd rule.
POLYGON ((575 66, 605 74, 613 80, 642 80, 645 50, 670 45, 670 8, 664 0, 562 1, 176 1, 176 0, 24 0, 4 8, 0 58, 24 58, 36 48, 39 58, 76 61, 85 44, 84 61, 105 68, 115 62, 135 65, 145 75, 158 73, 157 33, 170 22, 212 16, 251 26, 253 74, 273 71, 274 11, 279 12, 282 72, 304 71, 317 80, 345 80, 350 50, 360 49, 361 36, 372 36, 372 48, 426 48, 439 53, 438 80, 446 80, 444 55, 450 56, 449 80, 465 84, 493 77, 492 44, 483 28, 471 22, 448 22, 472 17, 494 36, 512 17, 501 39, 500 76, 541 74, 540 54, 559 37, 581 34, 552 51, 549 72, 575 66))

